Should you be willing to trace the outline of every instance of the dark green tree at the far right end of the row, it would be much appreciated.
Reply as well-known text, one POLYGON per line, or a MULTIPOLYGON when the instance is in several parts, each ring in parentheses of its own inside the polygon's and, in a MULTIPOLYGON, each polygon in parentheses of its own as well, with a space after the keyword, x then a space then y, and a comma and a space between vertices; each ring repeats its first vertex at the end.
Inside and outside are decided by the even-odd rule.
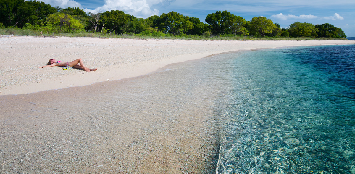
POLYGON ((315 25, 318 29, 318 37, 346 38, 342 29, 334 27, 329 23, 315 25))

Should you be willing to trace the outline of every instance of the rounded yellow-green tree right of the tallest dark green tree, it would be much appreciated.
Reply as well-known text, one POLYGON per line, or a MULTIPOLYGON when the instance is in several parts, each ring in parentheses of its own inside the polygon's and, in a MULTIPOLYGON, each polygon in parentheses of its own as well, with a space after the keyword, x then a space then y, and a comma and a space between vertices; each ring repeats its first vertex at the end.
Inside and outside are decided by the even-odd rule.
POLYGON ((253 36, 265 37, 266 34, 272 33, 275 28, 277 28, 277 26, 272 20, 263 16, 253 17, 249 24, 249 31, 253 36))

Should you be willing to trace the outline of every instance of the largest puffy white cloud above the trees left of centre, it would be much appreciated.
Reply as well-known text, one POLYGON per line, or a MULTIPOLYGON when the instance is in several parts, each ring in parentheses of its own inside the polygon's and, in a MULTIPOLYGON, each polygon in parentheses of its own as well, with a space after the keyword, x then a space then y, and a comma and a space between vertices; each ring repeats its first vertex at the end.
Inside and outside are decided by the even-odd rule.
MULTIPOLYGON (((105 4, 97 7, 95 11, 122 10, 137 18, 146 18, 153 15, 159 15, 159 10, 152 9, 152 5, 169 4, 173 0, 104 0, 105 4)), ((84 11, 91 11, 85 9, 84 11)))

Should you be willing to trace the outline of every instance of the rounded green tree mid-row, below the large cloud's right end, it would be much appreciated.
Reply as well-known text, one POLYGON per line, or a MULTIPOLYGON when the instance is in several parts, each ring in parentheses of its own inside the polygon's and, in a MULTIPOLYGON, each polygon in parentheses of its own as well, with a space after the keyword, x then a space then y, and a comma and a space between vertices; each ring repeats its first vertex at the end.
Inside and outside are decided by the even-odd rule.
POLYGON ((182 34, 184 31, 192 29, 192 22, 189 21, 188 16, 180 15, 174 11, 163 13, 159 17, 159 30, 170 34, 182 34))

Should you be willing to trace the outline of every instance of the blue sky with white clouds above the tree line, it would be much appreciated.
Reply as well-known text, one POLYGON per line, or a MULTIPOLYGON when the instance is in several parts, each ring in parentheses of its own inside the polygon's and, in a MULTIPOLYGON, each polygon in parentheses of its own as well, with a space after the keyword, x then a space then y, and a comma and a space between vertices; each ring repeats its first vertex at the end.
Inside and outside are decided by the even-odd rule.
POLYGON ((39 0, 51 6, 80 7, 86 12, 123 10, 138 18, 170 11, 184 16, 205 18, 210 13, 228 10, 250 21, 265 16, 282 28, 294 22, 330 23, 355 37, 355 0, 39 0))

